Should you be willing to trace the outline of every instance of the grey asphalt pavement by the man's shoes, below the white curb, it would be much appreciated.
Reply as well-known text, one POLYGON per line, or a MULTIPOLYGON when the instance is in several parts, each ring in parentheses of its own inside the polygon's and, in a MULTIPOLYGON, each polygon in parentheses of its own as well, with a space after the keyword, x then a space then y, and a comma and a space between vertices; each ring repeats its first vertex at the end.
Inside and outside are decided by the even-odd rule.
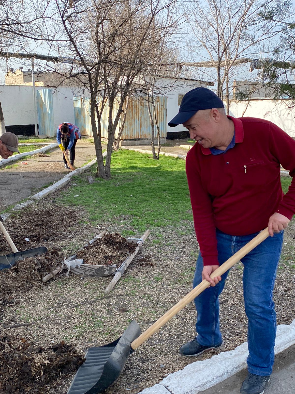
MULTIPOLYGON (((243 370, 218 385, 202 391, 202 394, 239 394, 247 370, 243 370)), ((295 345, 275 356, 273 374, 264 394, 295 393, 295 345)))

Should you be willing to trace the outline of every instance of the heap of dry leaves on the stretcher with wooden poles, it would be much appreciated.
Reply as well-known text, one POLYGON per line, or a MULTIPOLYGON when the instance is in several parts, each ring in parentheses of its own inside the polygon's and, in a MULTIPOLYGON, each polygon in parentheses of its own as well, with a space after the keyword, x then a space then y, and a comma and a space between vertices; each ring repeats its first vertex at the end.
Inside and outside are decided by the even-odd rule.
POLYGON ((136 244, 127 242, 120 234, 105 234, 94 243, 77 253, 77 258, 83 258, 84 264, 114 265, 120 267, 127 255, 133 253, 136 244))

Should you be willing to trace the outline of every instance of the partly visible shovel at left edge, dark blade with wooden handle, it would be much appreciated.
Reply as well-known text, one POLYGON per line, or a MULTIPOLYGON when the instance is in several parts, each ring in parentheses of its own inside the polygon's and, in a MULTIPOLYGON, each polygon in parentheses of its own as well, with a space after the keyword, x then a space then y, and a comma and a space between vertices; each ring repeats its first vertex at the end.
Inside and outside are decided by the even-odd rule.
POLYGON ((0 270, 12 267, 18 260, 24 260, 24 258, 33 257, 36 255, 42 255, 42 253, 47 252, 47 248, 45 246, 36 247, 34 249, 28 249, 28 250, 19 252, 17 250, 17 247, 13 243, 13 240, 10 238, 8 232, 6 231, 6 228, 4 227, 2 222, 3 222, 3 219, 0 216, 0 229, 3 232, 7 242, 11 246, 11 249, 13 250, 14 253, 11 253, 10 255, 0 256, 0 270))

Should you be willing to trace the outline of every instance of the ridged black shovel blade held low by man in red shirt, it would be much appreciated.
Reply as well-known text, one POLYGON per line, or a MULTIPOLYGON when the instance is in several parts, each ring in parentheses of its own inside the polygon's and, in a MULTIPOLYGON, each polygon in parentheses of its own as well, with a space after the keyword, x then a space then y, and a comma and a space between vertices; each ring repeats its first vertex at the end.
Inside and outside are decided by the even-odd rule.
POLYGON ((135 320, 120 338, 110 344, 89 348, 86 361, 76 372, 67 394, 98 394, 121 374, 131 353, 131 342, 141 333, 135 320))

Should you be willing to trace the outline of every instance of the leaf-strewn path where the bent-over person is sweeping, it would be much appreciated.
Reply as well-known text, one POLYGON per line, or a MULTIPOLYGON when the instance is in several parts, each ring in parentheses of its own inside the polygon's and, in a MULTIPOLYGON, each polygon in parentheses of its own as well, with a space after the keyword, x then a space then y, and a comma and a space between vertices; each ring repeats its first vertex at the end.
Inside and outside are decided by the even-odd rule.
MULTIPOLYGON (((69 172, 64 167, 59 147, 47 151, 45 154, 48 156, 31 156, 12 165, 1 167, 0 212, 7 206, 17 204, 37 193, 44 186, 56 182, 69 172), (21 164, 22 161, 26 161, 28 164, 21 164)), ((93 158, 95 158, 94 144, 90 143, 88 139, 79 140, 76 145, 74 166, 76 168, 82 167, 93 158)))

